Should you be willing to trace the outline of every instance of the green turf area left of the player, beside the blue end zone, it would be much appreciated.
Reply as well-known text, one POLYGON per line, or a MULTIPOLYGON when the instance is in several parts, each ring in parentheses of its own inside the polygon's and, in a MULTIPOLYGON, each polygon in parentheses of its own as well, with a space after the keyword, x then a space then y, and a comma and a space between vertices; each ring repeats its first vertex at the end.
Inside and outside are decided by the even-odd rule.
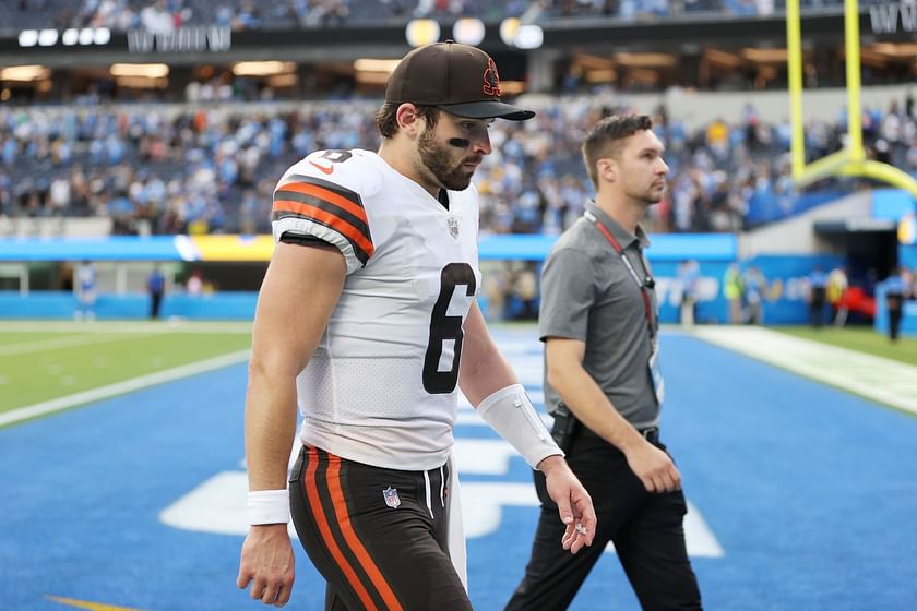
POLYGON ((0 412, 250 347, 250 322, 2 322, 0 412))

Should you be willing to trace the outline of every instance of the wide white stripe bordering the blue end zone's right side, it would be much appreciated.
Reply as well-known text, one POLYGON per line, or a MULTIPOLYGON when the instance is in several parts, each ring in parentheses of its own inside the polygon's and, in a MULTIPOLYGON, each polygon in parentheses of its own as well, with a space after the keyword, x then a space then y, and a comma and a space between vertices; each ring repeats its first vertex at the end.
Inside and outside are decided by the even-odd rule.
POLYGON ((917 414, 917 367, 755 326, 694 327, 701 339, 917 414))

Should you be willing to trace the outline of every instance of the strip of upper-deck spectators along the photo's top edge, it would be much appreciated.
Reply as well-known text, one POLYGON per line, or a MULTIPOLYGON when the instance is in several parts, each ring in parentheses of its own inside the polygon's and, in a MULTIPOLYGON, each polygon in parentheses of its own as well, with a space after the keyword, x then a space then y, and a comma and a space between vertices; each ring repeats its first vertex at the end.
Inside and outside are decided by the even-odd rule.
MULTIPOLYGON (((861 0, 861 4, 879 0, 861 0)), ((801 0, 802 10, 837 9, 843 0, 801 0)), ((497 22, 508 16, 533 20, 647 20, 700 13, 764 16, 785 10, 783 0, 17 0, 3 2, 0 29, 108 27, 123 32, 144 27, 171 32, 182 25, 228 25, 236 31, 288 29, 378 24, 408 17, 476 16, 497 22)))

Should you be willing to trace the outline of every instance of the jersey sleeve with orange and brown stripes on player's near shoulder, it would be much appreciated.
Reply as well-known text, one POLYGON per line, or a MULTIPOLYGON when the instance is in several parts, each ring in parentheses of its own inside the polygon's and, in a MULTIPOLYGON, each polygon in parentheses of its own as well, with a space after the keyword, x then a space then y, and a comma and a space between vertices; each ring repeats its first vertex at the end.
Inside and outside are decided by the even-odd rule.
POLYGON ((364 267, 376 250, 360 194, 314 176, 301 163, 274 190, 272 220, 275 242, 287 235, 314 237, 337 247, 347 262, 347 274, 364 267))

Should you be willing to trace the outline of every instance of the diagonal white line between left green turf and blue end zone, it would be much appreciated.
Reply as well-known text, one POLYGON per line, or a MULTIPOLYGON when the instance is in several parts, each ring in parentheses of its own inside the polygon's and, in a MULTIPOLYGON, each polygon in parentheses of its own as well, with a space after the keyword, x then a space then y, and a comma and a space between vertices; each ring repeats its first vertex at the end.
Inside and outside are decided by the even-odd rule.
POLYGON ((142 388, 146 388, 147 386, 153 386, 154 384, 172 382, 175 380, 180 380, 181 378, 188 378, 189 375, 195 375, 198 373, 204 373, 205 371, 212 371, 214 369, 221 369, 230 364, 245 362, 248 360, 250 354, 250 350, 238 350, 236 352, 229 352, 228 355, 222 355, 203 361, 175 367, 172 369, 141 375, 139 378, 132 378, 130 380, 124 380, 123 382, 109 384, 108 386, 99 386, 98 388, 83 391, 66 397, 20 407, 7 411, 5 414, 0 414, 0 427, 12 424, 28 418, 35 418, 36 416, 60 411, 61 409, 73 407, 74 405, 106 399, 116 395, 140 391, 142 388))

